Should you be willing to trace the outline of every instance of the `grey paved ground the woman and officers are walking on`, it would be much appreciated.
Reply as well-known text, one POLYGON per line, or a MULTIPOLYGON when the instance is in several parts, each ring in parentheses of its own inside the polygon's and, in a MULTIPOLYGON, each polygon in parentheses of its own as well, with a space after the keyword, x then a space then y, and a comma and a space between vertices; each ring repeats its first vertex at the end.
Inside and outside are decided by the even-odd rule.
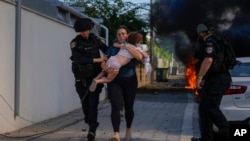
MULTIPOLYGON (((36 125, 0 136, 1 141, 87 141, 87 125, 81 109, 36 125), (8 137, 7 137, 8 136, 8 137)), ((190 141, 199 136, 197 104, 188 91, 138 94, 135 102, 133 141, 190 141)), ((110 103, 99 105, 96 141, 108 141, 113 134, 110 103)), ((121 137, 125 120, 122 118, 121 137)))

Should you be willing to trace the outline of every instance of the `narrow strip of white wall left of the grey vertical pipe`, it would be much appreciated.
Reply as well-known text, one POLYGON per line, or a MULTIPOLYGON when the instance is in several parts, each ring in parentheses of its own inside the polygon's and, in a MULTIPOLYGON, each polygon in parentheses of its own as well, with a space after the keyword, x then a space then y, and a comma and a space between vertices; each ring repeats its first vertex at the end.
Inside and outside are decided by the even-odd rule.
POLYGON ((13 125, 15 7, 0 1, 0 19, 0 132, 3 132, 15 128, 15 125, 13 125))

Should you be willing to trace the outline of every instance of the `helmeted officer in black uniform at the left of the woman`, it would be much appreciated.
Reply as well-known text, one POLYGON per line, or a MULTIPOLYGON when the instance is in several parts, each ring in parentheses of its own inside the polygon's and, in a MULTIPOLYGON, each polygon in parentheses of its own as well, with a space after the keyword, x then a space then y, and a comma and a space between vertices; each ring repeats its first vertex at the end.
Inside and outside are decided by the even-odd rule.
POLYGON ((99 124, 97 122, 98 103, 103 84, 98 84, 94 92, 89 92, 88 87, 93 78, 102 71, 101 63, 107 60, 106 57, 101 57, 99 52, 99 50, 106 52, 107 46, 95 34, 90 33, 93 26, 94 23, 89 18, 76 20, 74 29, 80 34, 70 42, 75 87, 81 100, 84 120, 89 125, 88 141, 95 139, 99 124))

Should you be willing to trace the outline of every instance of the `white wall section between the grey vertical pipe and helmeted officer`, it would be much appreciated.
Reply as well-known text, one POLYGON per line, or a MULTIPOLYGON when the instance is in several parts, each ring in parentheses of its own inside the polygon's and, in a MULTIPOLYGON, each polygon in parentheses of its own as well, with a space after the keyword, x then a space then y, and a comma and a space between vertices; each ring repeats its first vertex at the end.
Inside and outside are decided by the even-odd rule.
POLYGON ((37 122, 75 109, 79 99, 73 87, 69 42, 76 33, 27 10, 21 19, 20 112, 37 122))

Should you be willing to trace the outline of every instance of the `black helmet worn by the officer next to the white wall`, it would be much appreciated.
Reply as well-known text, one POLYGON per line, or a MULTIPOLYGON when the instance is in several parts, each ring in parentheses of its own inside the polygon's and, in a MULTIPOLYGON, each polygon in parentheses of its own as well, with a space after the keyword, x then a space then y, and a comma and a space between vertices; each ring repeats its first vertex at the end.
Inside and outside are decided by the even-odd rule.
POLYGON ((89 18, 77 19, 74 24, 74 29, 76 32, 82 32, 86 30, 91 30, 94 23, 89 18))

